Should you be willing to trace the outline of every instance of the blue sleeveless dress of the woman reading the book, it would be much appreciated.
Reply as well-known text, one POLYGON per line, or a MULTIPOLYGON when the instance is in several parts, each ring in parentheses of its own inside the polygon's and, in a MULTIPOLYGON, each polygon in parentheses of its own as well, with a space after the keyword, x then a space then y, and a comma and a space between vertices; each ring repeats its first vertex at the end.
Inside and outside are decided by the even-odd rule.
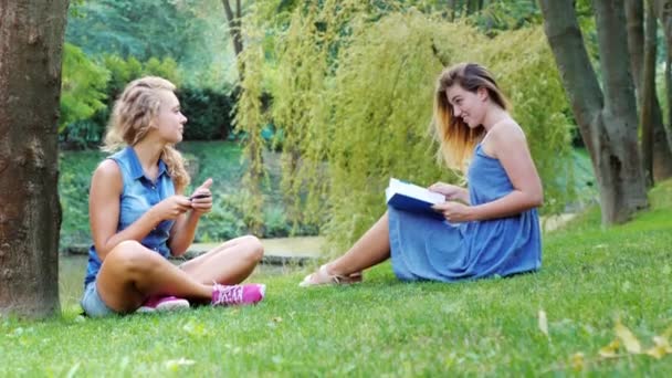
MULTIPOLYGON (((498 159, 481 145, 468 171, 472 204, 513 191, 498 159)), ((388 207, 392 270, 403 281, 455 282, 506 276, 542 266, 542 237, 536 209, 516 216, 451 224, 388 207)))

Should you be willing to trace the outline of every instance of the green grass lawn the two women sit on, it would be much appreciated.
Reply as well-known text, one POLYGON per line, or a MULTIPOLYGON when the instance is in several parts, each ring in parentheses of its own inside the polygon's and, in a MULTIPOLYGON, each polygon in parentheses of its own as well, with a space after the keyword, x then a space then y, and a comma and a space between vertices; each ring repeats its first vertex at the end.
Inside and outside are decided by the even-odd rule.
POLYGON ((654 208, 602 229, 590 211, 545 235, 539 273, 460 284, 401 283, 388 264, 349 287, 304 290, 307 270, 258 274, 267 297, 244 308, 162 315, 0 318, 0 376, 672 376, 622 346, 672 326, 672 182, 654 208), (546 314, 547 335, 539 322, 546 314))

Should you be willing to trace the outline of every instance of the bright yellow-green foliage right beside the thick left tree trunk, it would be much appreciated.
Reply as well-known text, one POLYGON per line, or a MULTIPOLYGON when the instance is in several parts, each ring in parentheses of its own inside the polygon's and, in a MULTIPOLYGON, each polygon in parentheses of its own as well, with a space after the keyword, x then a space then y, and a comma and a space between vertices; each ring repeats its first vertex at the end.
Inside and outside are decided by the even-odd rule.
POLYGON ((63 48, 61 85, 61 118, 59 133, 74 122, 91 117, 105 107, 105 86, 109 72, 91 61, 84 52, 70 43, 63 48))

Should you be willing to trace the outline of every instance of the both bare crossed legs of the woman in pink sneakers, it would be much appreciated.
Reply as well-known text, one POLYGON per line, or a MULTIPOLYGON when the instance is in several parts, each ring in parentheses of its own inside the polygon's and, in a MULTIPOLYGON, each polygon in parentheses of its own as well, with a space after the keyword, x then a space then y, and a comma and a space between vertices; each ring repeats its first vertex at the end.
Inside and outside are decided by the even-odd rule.
POLYGON ((208 302, 214 282, 229 285, 242 282, 262 256, 261 242, 254 237, 242 237, 178 267, 136 241, 124 241, 107 254, 96 288, 105 304, 120 313, 135 311, 151 295, 208 302))

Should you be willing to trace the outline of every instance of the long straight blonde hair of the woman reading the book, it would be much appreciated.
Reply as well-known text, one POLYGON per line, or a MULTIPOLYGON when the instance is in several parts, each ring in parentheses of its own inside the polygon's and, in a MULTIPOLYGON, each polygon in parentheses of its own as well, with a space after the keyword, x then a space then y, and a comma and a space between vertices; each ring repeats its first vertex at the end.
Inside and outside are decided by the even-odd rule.
POLYGON ((493 75, 477 63, 460 63, 443 70, 437 81, 434 95, 434 130, 440 148, 438 158, 453 169, 464 170, 465 162, 474 147, 485 135, 485 128, 471 128, 460 117, 455 117, 453 107, 448 101, 447 90, 460 85, 464 91, 476 92, 487 90, 490 98, 503 109, 508 108, 508 102, 500 91, 493 75))

